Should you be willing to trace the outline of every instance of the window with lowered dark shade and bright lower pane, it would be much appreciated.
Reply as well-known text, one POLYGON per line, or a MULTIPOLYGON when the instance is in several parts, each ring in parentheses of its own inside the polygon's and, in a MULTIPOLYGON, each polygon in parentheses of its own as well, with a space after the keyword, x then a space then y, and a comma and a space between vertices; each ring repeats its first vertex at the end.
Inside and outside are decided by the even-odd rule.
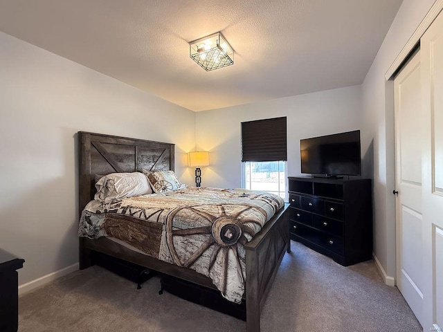
POLYGON ((243 187, 286 198, 286 117, 242 122, 243 187))

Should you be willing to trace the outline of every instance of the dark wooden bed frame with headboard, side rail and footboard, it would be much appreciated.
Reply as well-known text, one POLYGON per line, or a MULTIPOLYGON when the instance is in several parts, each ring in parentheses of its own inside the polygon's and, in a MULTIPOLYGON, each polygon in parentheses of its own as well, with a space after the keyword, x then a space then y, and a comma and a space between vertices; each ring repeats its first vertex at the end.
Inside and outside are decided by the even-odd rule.
MULTIPOLYGON (((79 212, 93 199, 96 174, 141 172, 142 169, 174 170, 174 144, 98 133, 78 132, 79 212)), ((290 252, 289 204, 246 243, 246 331, 260 331, 260 313, 284 253, 290 252)), ((158 231, 157 231, 158 233, 158 231)), ((93 252, 101 252, 134 264, 216 289, 210 278, 194 270, 129 250, 106 237, 80 237, 80 270, 93 265, 93 252)))

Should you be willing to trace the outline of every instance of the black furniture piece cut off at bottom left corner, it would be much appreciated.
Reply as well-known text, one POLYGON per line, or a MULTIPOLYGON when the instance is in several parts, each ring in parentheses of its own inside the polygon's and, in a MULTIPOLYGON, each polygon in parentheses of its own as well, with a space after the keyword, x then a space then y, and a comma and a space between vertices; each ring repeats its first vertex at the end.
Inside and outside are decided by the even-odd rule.
POLYGON ((19 268, 24 259, 0 249, 0 331, 16 332, 19 324, 19 268))

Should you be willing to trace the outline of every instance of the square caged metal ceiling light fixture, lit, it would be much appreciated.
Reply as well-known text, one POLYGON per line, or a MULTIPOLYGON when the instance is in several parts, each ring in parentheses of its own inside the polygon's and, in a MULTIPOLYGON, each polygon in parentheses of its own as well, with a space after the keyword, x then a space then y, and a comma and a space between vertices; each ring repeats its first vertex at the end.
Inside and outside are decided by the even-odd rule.
POLYGON ((190 42, 190 57, 205 71, 234 64, 234 50, 221 33, 190 42))

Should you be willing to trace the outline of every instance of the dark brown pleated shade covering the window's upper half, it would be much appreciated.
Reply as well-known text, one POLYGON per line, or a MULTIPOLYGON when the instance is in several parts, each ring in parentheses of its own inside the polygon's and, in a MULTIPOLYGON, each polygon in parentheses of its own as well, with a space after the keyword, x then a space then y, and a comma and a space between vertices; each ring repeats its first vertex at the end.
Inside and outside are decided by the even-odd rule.
POLYGON ((286 116, 242 122, 242 161, 287 160, 286 116))

